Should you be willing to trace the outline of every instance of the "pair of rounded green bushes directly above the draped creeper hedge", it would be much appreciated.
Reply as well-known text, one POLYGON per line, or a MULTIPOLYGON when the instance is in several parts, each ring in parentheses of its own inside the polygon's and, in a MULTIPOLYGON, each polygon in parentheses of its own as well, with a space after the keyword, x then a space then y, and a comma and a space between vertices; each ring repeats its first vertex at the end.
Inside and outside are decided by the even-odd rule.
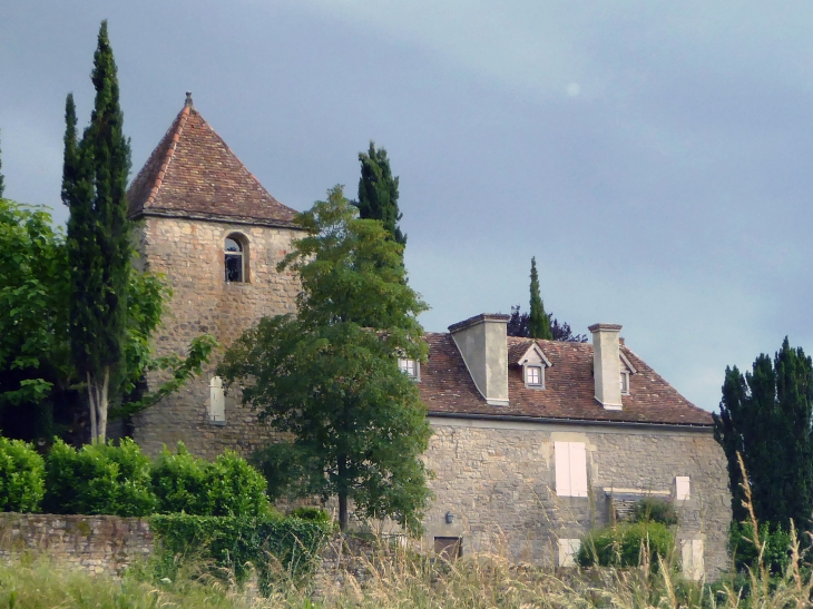
POLYGON ((178 442, 166 446, 153 466, 156 512, 195 515, 263 517, 272 512, 265 479, 242 456, 227 451, 209 463, 178 442))

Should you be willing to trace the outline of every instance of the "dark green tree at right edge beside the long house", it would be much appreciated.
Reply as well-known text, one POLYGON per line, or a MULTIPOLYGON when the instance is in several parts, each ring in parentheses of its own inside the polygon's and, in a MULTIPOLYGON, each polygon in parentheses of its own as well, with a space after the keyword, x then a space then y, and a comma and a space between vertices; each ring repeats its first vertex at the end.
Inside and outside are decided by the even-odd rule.
MULTIPOLYGON (((742 455, 754 513, 771 531, 811 530, 813 363, 785 337, 773 361, 761 354, 743 375, 727 367, 714 438, 728 466, 734 522, 748 520, 742 455)), ((801 539, 801 537, 800 537, 801 539)))

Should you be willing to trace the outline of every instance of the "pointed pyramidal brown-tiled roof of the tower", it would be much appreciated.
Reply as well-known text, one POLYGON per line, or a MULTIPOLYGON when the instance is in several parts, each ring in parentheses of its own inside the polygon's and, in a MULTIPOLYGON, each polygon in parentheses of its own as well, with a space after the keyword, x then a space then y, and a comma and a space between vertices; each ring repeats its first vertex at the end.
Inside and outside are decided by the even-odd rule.
POLYGON ((127 191, 145 215, 293 226, 296 212, 263 188, 187 101, 127 191))

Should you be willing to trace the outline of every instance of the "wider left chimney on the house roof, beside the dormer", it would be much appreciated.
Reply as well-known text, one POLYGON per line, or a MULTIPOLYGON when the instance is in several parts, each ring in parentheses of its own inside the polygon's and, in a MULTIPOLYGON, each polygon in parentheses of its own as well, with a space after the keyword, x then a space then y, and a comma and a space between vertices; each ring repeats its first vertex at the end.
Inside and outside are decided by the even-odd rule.
POLYGON ((508 405, 508 320, 483 313, 449 326, 474 385, 492 406, 508 405))

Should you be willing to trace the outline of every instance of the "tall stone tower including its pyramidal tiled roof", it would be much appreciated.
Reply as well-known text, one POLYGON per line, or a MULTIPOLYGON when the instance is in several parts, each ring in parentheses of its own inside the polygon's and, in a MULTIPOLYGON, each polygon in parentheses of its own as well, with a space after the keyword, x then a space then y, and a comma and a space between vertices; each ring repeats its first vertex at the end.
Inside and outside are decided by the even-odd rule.
MULTIPOLYGON (((156 340, 158 355, 184 353, 203 333, 228 346, 267 315, 293 312, 298 284, 277 263, 303 234, 192 102, 186 104, 128 190, 144 269, 160 273, 173 298, 156 340)), ((255 414, 224 397, 214 367, 131 420, 148 453, 183 440, 196 455, 251 453, 270 436, 255 414)), ((155 390, 159 379, 147 379, 155 390)))

